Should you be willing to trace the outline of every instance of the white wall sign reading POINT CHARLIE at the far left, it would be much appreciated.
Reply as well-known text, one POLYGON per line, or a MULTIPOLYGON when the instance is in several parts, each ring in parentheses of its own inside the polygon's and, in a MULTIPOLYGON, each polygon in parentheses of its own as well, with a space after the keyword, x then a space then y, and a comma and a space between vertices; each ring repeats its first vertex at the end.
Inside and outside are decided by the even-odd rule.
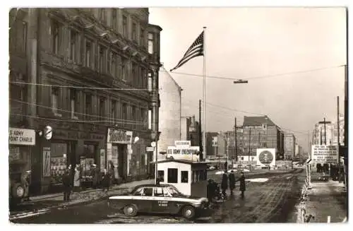
POLYGON ((8 143, 34 146, 35 130, 8 128, 8 143))

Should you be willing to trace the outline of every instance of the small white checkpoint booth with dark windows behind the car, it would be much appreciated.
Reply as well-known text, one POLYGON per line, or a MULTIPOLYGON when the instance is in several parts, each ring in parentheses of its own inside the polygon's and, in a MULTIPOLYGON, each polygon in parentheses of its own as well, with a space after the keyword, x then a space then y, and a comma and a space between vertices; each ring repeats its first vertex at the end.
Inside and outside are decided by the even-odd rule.
POLYGON ((160 184, 172 184, 185 195, 206 197, 207 164, 180 159, 160 160, 157 162, 160 184))

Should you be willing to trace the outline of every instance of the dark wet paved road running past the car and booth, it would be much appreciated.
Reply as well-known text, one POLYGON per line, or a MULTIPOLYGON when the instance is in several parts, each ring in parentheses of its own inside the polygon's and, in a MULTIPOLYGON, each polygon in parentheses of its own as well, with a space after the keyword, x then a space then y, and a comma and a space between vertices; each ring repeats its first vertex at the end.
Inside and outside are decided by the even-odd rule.
MULTIPOLYGON (((229 196, 214 211, 206 211, 202 218, 194 221, 171 215, 141 214, 136 218, 125 215, 107 207, 107 201, 96 201, 85 206, 37 211, 29 217, 12 220, 13 223, 273 223, 287 222, 293 215, 294 204, 299 197, 298 176, 304 174, 301 170, 289 173, 262 173, 256 176, 249 174, 248 178, 268 177, 268 182, 249 182, 246 198, 229 196)), ((211 174, 212 175, 212 174, 211 174)), ((214 177, 220 177, 213 175, 214 177)), ((239 191, 237 191, 238 193, 239 191)))

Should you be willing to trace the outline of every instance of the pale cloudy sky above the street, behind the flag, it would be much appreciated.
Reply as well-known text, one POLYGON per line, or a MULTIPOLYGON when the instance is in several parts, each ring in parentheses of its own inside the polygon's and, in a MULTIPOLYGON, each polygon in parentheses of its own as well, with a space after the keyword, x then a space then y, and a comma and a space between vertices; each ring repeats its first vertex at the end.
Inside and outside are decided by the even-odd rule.
MULTIPOLYGON (((344 113, 345 8, 150 8, 149 20, 163 29, 165 69, 177 65, 205 26, 206 76, 249 81, 207 78, 206 131, 231 131, 234 117, 241 126, 244 116, 266 114, 308 150, 316 122, 337 121, 337 96, 344 113)), ((202 74, 203 57, 171 73, 184 89, 183 116, 198 118, 202 74)))

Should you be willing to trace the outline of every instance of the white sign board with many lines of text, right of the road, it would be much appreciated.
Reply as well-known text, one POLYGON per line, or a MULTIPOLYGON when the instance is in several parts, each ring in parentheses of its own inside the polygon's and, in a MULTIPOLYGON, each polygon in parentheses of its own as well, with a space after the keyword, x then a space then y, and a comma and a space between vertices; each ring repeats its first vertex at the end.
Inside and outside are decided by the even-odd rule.
POLYGON ((311 146, 311 159, 316 164, 337 164, 338 146, 311 146))

